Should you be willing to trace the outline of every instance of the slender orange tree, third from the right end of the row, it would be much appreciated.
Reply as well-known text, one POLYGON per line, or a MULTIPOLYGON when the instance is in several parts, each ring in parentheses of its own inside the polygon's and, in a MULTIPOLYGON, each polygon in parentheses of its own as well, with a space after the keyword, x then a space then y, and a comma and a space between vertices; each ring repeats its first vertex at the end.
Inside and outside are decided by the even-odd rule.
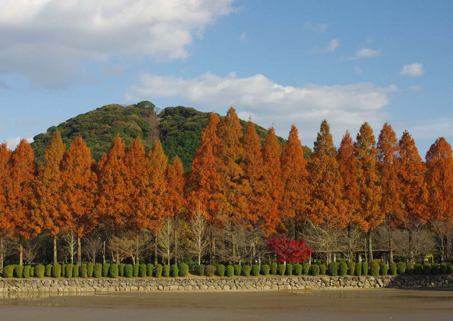
POLYGON ((382 192, 380 207, 387 222, 390 262, 393 262, 392 227, 396 226, 401 201, 397 176, 398 144, 395 131, 389 123, 384 124, 379 134, 376 156, 378 157, 379 182, 382 192))

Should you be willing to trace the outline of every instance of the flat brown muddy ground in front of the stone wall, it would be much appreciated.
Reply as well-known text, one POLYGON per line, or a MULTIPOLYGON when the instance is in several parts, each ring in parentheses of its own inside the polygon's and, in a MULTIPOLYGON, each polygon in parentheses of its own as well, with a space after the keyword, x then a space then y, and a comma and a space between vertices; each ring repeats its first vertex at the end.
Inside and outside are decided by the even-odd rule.
POLYGON ((453 320, 453 291, 316 290, 159 292, 7 298, 0 319, 65 321, 453 320))

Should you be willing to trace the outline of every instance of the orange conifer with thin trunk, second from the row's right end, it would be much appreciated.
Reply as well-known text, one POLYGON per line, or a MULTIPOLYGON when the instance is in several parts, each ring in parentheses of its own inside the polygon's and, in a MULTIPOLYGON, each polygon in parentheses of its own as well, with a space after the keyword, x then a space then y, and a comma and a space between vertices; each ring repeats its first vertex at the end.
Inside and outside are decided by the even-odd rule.
POLYGON ((426 207, 428 191, 424 180, 426 168, 418 153, 417 146, 411 135, 404 131, 398 142, 397 175, 400 209, 397 212, 396 224, 406 229, 409 234, 408 262, 414 261, 412 232, 419 225, 429 220, 426 207))

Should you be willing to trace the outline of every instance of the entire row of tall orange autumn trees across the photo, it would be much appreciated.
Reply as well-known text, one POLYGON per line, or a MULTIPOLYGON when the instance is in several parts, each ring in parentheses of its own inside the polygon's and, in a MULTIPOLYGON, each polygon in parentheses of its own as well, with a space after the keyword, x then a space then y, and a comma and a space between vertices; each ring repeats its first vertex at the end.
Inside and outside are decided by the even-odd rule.
MULTIPOLYGON (((209 115, 186 174, 178 157, 169 164, 159 142, 145 153, 139 138, 128 148, 116 138, 98 164, 81 137, 66 150, 58 132, 41 166, 25 140, 14 152, 0 145, 0 252, 5 236, 22 244, 46 234, 56 263, 56 239, 69 231, 78 237, 80 263, 80 239, 95 228, 116 237, 156 235, 167 218, 187 219, 194 208, 212 227, 240 225, 265 236, 295 237, 302 224, 327 233, 359 227, 372 260, 371 233, 385 220, 408 231, 452 220, 451 147, 437 139, 424 163, 407 131, 398 140, 386 123, 376 143, 364 123, 355 142, 346 132, 337 149, 323 121, 307 161, 295 126, 283 150, 273 128, 261 144, 255 125, 249 121, 243 131, 233 108, 221 120, 209 115)), ((331 246, 324 250, 329 261, 331 246)), ((22 264, 21 245, 19 253, 22 264)))

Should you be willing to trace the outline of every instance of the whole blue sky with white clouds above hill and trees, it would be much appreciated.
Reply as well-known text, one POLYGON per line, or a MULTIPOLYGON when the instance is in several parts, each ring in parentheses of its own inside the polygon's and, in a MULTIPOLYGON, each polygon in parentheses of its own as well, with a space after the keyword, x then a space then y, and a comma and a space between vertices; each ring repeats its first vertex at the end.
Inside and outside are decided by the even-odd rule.
POLYGON ((313 145, 368 121, 424 156, 453 141, 450 1, 0 1, 0 141, 150 100, 272 124, 313 145))

